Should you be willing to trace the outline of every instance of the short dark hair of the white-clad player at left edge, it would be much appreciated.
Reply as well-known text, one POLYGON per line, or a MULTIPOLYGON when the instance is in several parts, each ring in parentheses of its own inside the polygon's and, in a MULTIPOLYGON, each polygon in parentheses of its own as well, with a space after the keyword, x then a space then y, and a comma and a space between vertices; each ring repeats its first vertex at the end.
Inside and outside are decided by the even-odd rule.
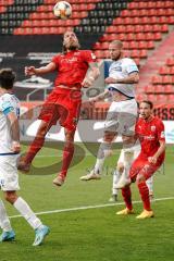
POLYGON ((12 69, 0 70, 0 87, 3 89, 12 89, 16 75, 12 69))

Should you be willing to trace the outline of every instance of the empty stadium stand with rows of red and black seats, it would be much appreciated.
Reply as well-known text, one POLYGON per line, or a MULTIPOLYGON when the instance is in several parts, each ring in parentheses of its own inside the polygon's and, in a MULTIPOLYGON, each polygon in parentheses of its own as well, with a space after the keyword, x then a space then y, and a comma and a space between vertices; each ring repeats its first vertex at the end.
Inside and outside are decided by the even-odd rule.
POLYGON ((20 79, 24 78, 21 72, 26 62, 39 64, 28 61, 28 53, 61 51, 62 34, 73 28, 82 47, 92 48, 99 61, 109 58, 108 48, 112 40, 122 40, 125 55, 132 57, 140 66, 137 99, 146 97, 157 104, 165 99, 172 101, 174 58, 169 47, 174 44, 174 1, 70 0, 73 15, 66 21, 53 16, 55 2, 0 1, 1 66, 13 66, 20 79), (4 53, 13 54, 5 58, 4 53))

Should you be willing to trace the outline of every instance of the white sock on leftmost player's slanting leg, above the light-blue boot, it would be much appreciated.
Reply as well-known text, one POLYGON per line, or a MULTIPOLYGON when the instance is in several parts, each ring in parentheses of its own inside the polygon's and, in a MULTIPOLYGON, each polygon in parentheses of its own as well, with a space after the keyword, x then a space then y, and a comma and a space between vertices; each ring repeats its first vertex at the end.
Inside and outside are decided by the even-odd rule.
POLYGON ((41 221, 35 215, 23 198, 18 197, 13 206, 34 229, 42 225, 41 221))

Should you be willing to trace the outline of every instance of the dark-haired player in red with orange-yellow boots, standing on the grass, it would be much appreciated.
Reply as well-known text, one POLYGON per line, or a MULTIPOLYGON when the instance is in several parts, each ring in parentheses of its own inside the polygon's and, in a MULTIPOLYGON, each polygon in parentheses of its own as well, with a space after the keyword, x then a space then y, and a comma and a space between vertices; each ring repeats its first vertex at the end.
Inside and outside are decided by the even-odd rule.
MULTIPOLYGON (((136 138, 139 138, 141 150, 138 158, 133 162, 129 177, 132 182, 136 181, 144 203, 144 211, 137 219, 153 216, 146 181, 161 166, 165 157, 164 125, 159 117, 152 115, 152 109, 151 101, 140 102, 140 117, 136 123, 136 138)), ((134 213, 129 185, 122 188, 122 195, 126 209, 119 211, 116 214, 134 213)))

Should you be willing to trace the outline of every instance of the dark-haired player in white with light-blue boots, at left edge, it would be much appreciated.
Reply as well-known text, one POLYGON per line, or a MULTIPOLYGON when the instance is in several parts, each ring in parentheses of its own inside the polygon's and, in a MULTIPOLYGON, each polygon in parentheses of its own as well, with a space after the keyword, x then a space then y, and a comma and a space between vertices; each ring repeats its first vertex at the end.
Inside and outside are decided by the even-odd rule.
MULTIPOLYGON (((20 189, 16 162, 21 145, 20 104, 17 98, 13 95, 14 79, 15 74, 11 69, 0 70, 0 188, 4 192, 4 198, 35 229, 36 237, 33 246, 38 246, 49 233, 49 227, 41 223, 26 201, 16 194, 16 190, 20 189)), ((2 229, 0 243, 15 239, 15 233, 1 199, 0 227, 2 229)))

